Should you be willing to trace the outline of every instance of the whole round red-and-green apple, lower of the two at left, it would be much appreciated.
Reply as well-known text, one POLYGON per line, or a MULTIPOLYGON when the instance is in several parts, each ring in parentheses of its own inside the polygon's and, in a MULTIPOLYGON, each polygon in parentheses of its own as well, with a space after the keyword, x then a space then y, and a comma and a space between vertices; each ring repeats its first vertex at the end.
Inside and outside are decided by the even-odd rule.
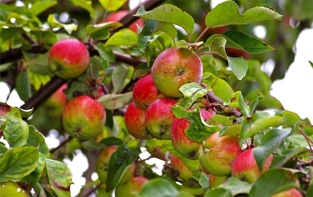
POLYGON ((79 96, 65 105, 63 127, 71 137, 90 139, 103 130, 105 119, 102 104, 89 96, 79 96))

